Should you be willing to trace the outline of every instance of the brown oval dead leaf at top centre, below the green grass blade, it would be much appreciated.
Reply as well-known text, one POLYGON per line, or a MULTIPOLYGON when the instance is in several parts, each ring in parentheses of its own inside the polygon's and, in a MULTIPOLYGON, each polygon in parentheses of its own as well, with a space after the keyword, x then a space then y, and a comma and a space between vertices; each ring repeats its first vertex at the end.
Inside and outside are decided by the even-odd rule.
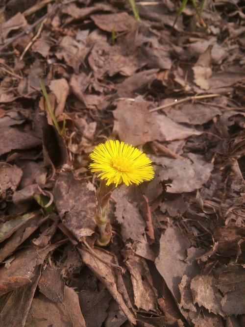
POLYGON ((90 18, 95 24, 106 32, 123 32, 133 28, 135 19, 126 12, 91 15, 90 18))

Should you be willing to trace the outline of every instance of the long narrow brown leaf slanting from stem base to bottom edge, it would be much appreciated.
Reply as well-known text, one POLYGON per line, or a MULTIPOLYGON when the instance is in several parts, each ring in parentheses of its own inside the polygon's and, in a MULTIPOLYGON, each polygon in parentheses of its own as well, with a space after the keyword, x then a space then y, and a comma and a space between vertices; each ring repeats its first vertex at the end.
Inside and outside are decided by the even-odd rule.
POLYGON ((93 251, 101 257, 103 261, 108 262, 108 264, 106 264, 95 257, 93 253, 88 252, 86 248, 78 248, 78 251, 82 256, 84 263, 98 277, 101 283, 105 285, 111 296, 118 302, 129 322, 131 324, 136 324, 135 316, 123 284, 122 276, 115 271, 115 268, 110 266, 110 263, 115 264, 114 255, 102 249, 93 249, 93 251), (125 296, 127 298, 125 298, 125 296))

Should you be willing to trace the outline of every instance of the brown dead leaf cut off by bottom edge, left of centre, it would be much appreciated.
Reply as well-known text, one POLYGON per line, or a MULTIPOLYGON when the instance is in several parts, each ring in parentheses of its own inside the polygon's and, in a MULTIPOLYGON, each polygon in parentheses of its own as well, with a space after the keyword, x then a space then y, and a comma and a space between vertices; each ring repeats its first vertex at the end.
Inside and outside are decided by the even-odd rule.
POLYGON ((31 303, 26 326, 86 327, 77 293, 73 288, 65 286, 63 302, 52 302, 39 294, 31 303))

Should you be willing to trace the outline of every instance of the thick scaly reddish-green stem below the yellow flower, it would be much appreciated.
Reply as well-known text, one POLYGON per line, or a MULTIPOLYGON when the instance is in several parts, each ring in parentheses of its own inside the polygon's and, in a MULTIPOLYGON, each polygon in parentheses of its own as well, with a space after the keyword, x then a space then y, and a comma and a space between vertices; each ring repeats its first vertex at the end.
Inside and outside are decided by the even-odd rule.
POLYGON ((111 192, 115 186, 110 184, 106 185, 104 179, 101 180, 100 186, 97 190, 97 208, 95 214, 95 221, 98 226, 99 237, 97 240, 97 245, 107 246, 110 243, 112 236, 112 227, 110 222, 107 220, 107 213, 109 208, 109 201, 111 197, 111 192))

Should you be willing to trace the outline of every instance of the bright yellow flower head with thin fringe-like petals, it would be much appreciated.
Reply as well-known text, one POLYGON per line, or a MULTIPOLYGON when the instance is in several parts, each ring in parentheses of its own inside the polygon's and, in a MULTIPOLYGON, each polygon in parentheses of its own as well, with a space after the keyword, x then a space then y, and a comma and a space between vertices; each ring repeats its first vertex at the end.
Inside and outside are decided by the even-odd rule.
POLYGON ((89 168, 92 172, 102 172, 98 175, 106 179, 106 185, 122 182, 129 184, 142 183, 154 177, 151 161, 146 154, 124 142, 106 141, 95 147, 90 154, 94 163, 89 168))

